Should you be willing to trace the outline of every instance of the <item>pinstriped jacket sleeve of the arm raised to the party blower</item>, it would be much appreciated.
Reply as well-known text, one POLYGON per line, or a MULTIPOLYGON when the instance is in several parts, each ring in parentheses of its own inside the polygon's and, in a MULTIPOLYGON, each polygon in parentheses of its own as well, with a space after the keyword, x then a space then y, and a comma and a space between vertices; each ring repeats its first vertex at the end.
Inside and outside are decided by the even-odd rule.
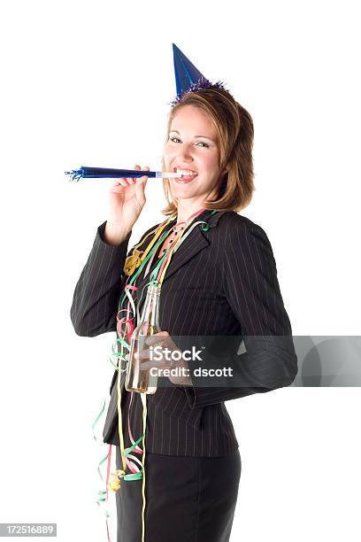
POLYGON ((127 258, 130 232, 123 243, 112 246, 104 241, 106 221, 97 228, 88 261, 75 286, 70 316, 81 337, 96 337, 116 330, 116 316, 123 267, 127 258))

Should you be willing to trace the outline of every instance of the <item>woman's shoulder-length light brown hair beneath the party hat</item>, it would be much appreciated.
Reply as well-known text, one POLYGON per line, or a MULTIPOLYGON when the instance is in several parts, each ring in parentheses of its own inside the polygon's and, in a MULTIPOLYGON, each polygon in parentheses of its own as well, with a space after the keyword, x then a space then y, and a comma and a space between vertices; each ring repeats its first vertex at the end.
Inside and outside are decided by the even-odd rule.
MULTIPOLYGON (((241 211, 250 204, 254 186, 252 148, 254 138, 253 120, 250 113, 234 100, 226 89, 201 89, 188 92, 181 97, 169 113, 166 139, 175 113, 184 105, 193 105, 206 112, 215 128, 219 139, 219 181, 218 197, 204 203, 206 209, 219 211, 241 211)), ((162 157, 162 171, 165 160, 162 157)), ((162 213, 177 213, 177 200, 172 197, 169 179, 163 179, 165 199, 168 202, 162 213)))

